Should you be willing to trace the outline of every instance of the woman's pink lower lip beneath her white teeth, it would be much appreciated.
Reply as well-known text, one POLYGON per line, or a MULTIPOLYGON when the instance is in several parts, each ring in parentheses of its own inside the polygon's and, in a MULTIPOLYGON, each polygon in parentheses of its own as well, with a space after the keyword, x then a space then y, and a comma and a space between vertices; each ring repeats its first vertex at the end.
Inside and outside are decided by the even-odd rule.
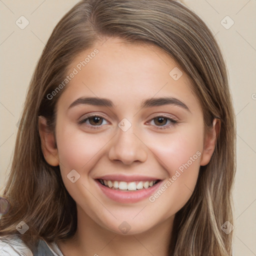
POLYGON ((159 181, 148 188, 142 188, 134 191, 122 191, 104 186, 98 180, 96 180, 96 182, 107 197, 121 203, 134 203, 143 200, 144 198, 149 197, 161 184, 161 181, 159 181))

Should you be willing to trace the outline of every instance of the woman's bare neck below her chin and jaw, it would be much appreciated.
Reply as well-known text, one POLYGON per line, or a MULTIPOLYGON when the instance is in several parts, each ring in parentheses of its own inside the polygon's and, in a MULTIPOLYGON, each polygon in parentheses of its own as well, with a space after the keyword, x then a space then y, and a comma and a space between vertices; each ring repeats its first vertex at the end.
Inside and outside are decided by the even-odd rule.
POLYGON ((101 227, 77 206, 77 230, 66 241, 58 242, 63 255, 157 255, 166 256, 174 216, 137 234, 118 234, 101 227))

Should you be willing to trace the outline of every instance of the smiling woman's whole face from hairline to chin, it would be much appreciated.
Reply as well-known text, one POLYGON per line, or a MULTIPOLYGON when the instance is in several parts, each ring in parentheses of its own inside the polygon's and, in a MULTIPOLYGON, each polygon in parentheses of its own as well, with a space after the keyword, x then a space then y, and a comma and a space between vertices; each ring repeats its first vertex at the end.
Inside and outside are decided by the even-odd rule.
POLYGON ((160 48, 117 38, 76 56, 70 73, 49 151, 78 214, 129 234, 173 217, 210 157, 188 76, 160 48))

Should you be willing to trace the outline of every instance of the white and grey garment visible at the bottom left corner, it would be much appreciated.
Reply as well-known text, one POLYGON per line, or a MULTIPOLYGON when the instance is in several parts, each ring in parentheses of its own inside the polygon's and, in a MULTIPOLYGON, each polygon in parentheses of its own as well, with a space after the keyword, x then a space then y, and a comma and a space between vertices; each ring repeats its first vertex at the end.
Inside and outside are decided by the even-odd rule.
POLYGON ((22 242, 17 235, 0 236, 0 256, 63 256, 57 244, 40 240, 36 253, 22 242))

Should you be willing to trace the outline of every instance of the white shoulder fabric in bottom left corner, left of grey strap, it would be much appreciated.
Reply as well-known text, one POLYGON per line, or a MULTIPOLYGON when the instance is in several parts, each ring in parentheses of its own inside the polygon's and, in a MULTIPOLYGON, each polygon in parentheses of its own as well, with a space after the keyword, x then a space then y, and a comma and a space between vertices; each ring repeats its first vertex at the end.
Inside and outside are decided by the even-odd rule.
POLYGON ((0 256, 33 256, 31 250, 16 235, 0 236, 0 256))

